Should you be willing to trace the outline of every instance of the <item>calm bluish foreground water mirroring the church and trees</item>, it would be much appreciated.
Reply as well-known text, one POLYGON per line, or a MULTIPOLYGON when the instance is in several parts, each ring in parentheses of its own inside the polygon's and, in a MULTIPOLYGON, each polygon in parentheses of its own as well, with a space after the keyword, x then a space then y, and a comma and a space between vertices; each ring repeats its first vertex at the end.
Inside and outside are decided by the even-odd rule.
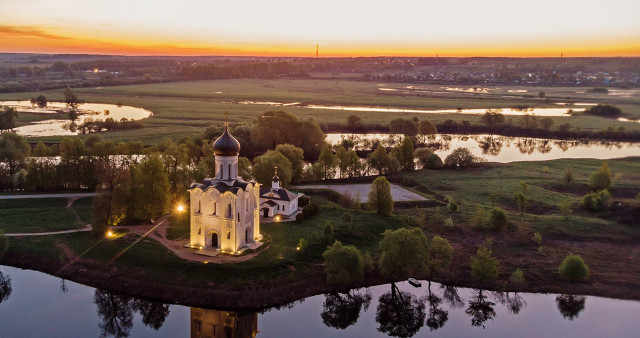
POLYGON ((4 337, 637 337, 640 302, 495 293, 427 282, 318 295, 279 309, 228 312, 121 296, 0 266, 4 337), (6 284, 5 284, 6 286, 6 284), (431 292, 430 292, 430 291, 431 292), (399 319, 398 319, 399 318, 399 319))

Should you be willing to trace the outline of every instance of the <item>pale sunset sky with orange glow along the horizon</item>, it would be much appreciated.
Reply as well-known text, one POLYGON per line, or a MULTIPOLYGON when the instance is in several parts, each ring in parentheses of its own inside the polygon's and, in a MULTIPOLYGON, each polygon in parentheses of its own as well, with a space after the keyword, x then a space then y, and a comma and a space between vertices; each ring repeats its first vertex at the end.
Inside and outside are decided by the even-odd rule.
POLYGON ((640 56, 640 1, 0 0, 0 52, 640 56))

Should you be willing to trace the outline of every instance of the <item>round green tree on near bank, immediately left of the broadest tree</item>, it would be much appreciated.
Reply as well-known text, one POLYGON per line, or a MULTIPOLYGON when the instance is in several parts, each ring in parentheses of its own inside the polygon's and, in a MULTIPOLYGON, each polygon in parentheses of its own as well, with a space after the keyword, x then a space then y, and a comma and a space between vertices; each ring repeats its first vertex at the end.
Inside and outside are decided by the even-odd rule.
POLYGON ((342 245, 340 241, 335 241, 322 253, 322 258, 329 284, 346 286, 364 276, 362 254, 353 245, 342 245))

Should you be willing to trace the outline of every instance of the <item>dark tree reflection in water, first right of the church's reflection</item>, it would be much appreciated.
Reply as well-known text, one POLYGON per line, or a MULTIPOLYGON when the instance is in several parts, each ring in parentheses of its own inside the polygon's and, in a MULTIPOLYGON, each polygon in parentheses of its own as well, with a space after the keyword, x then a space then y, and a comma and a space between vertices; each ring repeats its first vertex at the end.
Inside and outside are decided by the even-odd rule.
POLYGON ((325 296, 320 316, 325 325, 336 329, 346 329, 358 321, 362 308, 367 311, 370 304, 371 293, 368 291, 331 293, 325 296))

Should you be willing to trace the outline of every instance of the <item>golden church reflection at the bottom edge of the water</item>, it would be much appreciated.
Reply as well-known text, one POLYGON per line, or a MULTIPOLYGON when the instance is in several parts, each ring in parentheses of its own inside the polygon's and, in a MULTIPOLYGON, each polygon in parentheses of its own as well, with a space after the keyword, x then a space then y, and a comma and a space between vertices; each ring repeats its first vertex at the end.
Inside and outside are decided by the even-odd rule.
POLYGON ((257 312, 229 312, 191 308, 192 338, 255 337, 258 334, 257 312))

